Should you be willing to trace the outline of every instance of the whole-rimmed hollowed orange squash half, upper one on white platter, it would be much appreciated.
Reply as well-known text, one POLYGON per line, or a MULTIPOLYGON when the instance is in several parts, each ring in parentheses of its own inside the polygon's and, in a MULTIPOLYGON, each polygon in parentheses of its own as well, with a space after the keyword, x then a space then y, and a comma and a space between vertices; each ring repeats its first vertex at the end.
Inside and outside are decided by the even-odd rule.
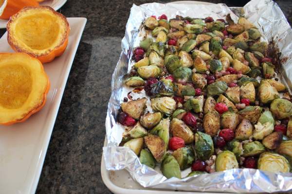
POLYGON ((25 52, 42 63, 60 56, 68 45, 67 18, 49 6, 25 7, 7 23, 8 43, 17 52, 25 52))

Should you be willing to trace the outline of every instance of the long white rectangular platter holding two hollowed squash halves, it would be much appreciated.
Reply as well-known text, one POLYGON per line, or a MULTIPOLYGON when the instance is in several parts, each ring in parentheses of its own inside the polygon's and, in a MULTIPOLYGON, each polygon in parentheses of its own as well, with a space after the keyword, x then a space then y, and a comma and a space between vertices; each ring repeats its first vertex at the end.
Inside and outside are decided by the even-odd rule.
MULTIPOLYGON (((67 18, 71 32, 64 54, 44 64, 51 88, 44 108, 27 121, 0 126, 0 194, 34 194, 50 142, 55 119, 86 18, 67 18)), ((0 39, 0 52, 14 52, 0 39)))

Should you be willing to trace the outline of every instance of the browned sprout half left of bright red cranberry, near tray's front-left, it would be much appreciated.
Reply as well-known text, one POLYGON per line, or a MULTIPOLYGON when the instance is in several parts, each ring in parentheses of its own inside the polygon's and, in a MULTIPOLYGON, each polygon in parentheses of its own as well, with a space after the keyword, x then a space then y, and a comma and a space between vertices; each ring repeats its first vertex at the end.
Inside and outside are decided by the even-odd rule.
POLYGON ((156 135, 147 135, 144 137, 144 141, 155 160, 161 162, 164 159, 167 149, 167 145, 163 139, 156 135))

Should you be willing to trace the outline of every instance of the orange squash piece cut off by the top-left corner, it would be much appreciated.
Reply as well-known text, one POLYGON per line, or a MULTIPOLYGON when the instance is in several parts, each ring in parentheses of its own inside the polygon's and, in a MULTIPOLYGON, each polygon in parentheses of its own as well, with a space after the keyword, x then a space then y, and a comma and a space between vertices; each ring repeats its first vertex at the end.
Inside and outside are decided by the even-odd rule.
POLYGON ((9 19, 26 6, 38 6, 37 0, 0 0, 0 19, 9 19))

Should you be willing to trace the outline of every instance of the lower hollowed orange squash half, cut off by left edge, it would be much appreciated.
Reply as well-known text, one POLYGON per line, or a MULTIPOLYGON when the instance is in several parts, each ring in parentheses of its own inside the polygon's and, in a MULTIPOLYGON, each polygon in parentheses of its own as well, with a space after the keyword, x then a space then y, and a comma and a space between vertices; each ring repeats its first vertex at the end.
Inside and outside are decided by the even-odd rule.
POLYGON ((50 81, 39 60, 0 53, 0 124, 23 122, 46 103, 50 81))

